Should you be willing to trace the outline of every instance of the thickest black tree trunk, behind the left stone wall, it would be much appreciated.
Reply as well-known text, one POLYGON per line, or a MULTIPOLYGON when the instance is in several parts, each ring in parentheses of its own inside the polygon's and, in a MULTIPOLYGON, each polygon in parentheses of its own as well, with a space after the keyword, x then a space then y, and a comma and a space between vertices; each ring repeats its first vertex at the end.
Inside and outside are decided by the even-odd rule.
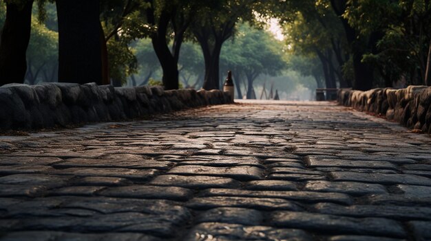
POLYGON ((56 0, 59 82, 103 83, 100 0, 56 0))

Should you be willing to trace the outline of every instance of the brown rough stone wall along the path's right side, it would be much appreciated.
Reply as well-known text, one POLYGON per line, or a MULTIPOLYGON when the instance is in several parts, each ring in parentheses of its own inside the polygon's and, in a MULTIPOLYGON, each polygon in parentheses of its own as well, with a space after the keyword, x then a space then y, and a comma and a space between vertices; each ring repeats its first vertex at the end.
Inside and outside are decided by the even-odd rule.
POLYGON ((406 89, 340 89, 338 102, 359 111, 386 116, 411 129, 431 134, 431 87, 409 86, 406 89))

